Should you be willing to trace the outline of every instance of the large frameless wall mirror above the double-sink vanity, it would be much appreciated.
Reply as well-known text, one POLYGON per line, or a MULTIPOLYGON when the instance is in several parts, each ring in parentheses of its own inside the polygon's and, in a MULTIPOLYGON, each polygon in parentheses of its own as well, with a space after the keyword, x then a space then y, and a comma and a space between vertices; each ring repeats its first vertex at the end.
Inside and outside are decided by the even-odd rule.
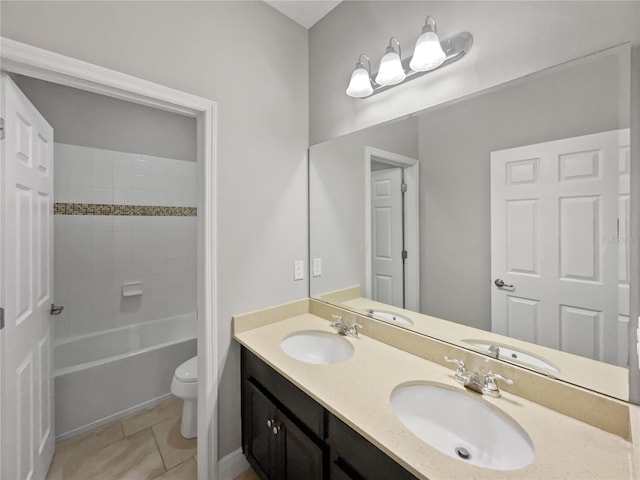
POLYGON ((628 400, 629 92, 623 45, 313 145, 311 296, 628 400))

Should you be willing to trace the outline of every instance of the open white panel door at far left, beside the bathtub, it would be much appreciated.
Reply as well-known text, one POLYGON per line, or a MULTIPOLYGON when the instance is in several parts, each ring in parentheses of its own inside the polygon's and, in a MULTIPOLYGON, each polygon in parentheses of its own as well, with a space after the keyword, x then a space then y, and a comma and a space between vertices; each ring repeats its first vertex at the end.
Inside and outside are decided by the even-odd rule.
POLYGON ((55 448, 53 130, 2 74, 2 471, 44 478, 55 448))

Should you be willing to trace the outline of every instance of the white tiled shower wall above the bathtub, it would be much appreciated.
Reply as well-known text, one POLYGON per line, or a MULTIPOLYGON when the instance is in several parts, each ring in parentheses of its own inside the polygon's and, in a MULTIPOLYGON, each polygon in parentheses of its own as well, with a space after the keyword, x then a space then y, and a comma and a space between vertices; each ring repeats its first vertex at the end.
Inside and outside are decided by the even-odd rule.
POLYGON ((194 162, 55 144, 54 201, 76 204, 54 216, 56 342, 195 311, 196 175, 194 162), (137 281, 143 294, 122 296, 137 281))

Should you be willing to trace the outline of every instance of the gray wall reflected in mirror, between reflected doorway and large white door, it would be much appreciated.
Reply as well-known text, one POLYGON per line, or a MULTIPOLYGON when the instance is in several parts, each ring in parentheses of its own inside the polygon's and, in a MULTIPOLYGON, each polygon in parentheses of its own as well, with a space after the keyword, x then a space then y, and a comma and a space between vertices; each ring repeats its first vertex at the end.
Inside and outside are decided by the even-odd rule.
POLYGON ((420 115, 423 313, 491 330, 492 151, 629 127, 618 55, 555 70, 420 115))

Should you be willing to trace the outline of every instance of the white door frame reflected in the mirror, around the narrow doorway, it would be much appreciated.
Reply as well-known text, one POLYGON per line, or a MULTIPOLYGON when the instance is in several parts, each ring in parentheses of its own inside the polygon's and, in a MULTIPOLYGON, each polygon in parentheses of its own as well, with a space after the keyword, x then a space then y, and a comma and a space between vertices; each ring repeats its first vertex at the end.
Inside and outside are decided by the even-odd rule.
POLYGON ((404 196, 404 245, 409 252, 404 264, 405 308, 420 311, 420 217, 419 182, 420 163, 415 158, 405 157, 375 147, 364 148, 364 294, 371 296, 371 161, 386 163, 404 170, 407 192, 404 196))

